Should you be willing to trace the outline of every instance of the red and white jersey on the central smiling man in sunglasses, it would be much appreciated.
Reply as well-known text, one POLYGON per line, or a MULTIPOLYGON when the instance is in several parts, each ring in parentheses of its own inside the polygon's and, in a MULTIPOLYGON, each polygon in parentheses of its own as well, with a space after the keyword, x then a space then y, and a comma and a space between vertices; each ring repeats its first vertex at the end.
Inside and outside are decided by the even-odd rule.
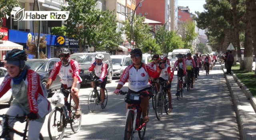
POLYGON ((151 66, 142 63, 138 71, 130 64, 124 69, 118 84, 124 85, 128 81, 128 88, 135 92, 150 87, 149 77, 158 78, 159 73, 151 66))

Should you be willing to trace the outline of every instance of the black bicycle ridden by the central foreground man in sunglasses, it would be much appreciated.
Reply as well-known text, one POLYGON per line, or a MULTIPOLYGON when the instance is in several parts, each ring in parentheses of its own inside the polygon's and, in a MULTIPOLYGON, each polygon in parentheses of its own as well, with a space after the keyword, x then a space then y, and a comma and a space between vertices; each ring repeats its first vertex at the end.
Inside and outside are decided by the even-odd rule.
MULTIPOLYGON (((120 90, 121 95, 129 94, 120 90)), ((140 94, 138 94, 140 96, 140 94)), ((148 107, 149 111, 149 107, 148 107)), ((147 113, 148 114, 148 113, 147 113)), ((139 138, 142 140, 146 133, 147 124, 143 122, 142 108, 139 104, 130 104, 126 112, 126 124, 124 129, 124 140, 132 140, 134 133, 138 131, 139 138), (134 119, 136 118, 136 119, 134 119), (130 134, 130 136, 129 136, 130 134)))

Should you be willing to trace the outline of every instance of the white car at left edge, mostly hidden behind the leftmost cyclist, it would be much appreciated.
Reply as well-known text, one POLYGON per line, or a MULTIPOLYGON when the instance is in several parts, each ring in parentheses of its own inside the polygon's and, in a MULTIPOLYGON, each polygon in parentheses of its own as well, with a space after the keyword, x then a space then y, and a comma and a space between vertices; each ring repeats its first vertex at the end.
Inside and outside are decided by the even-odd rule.
MULTIPOLYGON (((0 84, 2 84, 6 73, 7 73, 6 68, 0 67, 0 84)), ((11 104, 12 100, 13 100, 12 89, 10 89, 8 90, 8 92, 6 92, 6 94, 4 94, 4 96, 0 98, 0 104, 6 103, 6 102, 8 104, 11 104)))

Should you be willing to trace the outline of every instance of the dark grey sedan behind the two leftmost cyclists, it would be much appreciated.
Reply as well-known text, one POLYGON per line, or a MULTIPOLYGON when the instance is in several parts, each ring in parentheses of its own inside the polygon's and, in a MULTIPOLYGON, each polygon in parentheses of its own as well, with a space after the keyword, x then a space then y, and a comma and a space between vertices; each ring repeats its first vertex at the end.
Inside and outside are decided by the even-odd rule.
MULTIPOLYGON (((56 62, 59 62, 60 58, 50 58, 50 59, 28 59, 26 64, 28 64, 32 70, 36 71, 42 83, 46 86, 48 78, 50 76, 50 70, 53 68, 56 62)), ((56 79, 52 82, 50 89, 60 89, 60 77, 56 76, 56 79)))

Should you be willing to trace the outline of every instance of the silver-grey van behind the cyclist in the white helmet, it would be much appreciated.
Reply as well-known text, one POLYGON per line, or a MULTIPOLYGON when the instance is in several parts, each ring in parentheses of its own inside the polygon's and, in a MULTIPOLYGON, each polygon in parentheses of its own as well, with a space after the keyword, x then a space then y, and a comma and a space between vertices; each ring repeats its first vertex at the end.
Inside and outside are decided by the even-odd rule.
MULTIPOLYGON (((82 78, 81 84, 85 84, 85 79, 92 80, 94 72, 90 72, 88 68, 95 61, 95 56, 97 54, 103 54, 103 62, 108 64, 108 83, 112 82, 113 76, 113 65, 109 53, 107 52, 85 52, 85 53, 75 53, 70 55, 70 59, 76 60, 80 67, 80 77, 82 78)), ((90 83, 90 82, 86 82, 90 83)))

